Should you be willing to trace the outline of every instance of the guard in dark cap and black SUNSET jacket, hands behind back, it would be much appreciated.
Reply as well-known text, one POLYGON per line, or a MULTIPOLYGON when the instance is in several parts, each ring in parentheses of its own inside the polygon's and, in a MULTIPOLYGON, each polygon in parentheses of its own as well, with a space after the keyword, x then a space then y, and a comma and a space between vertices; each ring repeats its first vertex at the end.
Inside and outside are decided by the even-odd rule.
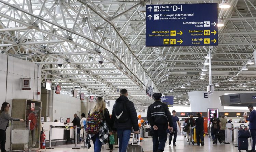
POLYGON ((172 131, 172 116, 168 106, 161 102, 161 93, 154 93, 153 104, 147 108, 147 120, 153 132, 153 152, 163 152, 167 140, 168 122, 172 131))

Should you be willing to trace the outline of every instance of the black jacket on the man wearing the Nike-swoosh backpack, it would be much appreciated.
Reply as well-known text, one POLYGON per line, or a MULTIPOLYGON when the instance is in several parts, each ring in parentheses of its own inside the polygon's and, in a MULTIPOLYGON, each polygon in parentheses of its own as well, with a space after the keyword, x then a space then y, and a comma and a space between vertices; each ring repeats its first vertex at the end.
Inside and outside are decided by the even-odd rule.
POLYGON ((112 111, 112 123, 114 124, 114 128, 115 129, 125 129, 125 130, 131 130, 131 128, 133 127, 134 131, 138 131, 139 130, 139 125, 138 125, 138 119, 137 119, 137 113, 134 107, 133 102, 129 101, 129 99, 124 96, 121 95, 118 99, 116 99, 116 103, 117 102, 124 102, 128 111, 128 115, 129 115, 129 119, 127 122, 125 123, 118 123, 118 121, 116 120, 115 117, 115 105, 113 106, 113 111, 112 111))

